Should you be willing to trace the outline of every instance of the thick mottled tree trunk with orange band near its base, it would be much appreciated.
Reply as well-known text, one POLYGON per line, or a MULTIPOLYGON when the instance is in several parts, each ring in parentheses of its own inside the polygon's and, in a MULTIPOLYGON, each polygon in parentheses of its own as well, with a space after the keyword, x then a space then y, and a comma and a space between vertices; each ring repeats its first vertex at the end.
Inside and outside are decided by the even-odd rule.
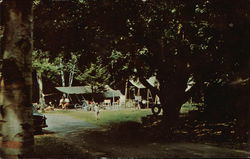
POLYGON ((0 150, 3 158, 33 150, 32 0, 5 0, 3 66, 0 83, 0 150))

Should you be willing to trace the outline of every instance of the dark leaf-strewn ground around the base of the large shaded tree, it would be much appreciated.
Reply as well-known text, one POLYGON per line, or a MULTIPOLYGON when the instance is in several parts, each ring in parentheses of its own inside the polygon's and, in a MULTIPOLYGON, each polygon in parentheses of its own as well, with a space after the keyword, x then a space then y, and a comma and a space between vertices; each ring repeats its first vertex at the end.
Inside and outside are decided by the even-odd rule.
POLYGON ((236 120, 205 121, 185 116, 172 128, 165 127, 161 120, 161 116, 148 116, 143 120, 145 131, 155 141, 210 143, 250 150, 250 128, 239 128, 236 120))

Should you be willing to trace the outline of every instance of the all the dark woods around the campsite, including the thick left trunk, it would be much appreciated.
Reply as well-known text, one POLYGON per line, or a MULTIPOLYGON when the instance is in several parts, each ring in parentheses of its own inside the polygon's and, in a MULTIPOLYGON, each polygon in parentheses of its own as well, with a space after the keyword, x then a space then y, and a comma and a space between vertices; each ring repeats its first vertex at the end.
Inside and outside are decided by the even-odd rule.
POLYGON ((0 5, 2 147, 21 142, 16 154, 25 155, 32 145, 32 71, 40 96, 42 80, 102 91, 107 84, 124 90, 127 80, 138 78, 159 96, 166 133, 178 125, 181 106, 192 97, 204 103, 204 120, 236 120, 237 136, 249 137, 249 0, 3 0, 0 5), (151 76, 159 88, 147 82, 151 76), (190 77, 195 84, 186 91, 190 77), (16 121, 11 128, 10 119, 16 121), (7 134, 19 134, 18 139, 7 134))

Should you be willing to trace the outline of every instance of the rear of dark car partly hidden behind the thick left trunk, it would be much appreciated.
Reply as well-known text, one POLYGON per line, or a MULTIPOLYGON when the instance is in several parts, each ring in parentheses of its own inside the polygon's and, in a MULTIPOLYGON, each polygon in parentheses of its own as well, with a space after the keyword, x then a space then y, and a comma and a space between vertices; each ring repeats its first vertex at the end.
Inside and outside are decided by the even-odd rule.
POLYGON ((33 106, 33 121, 34 121, 34 130, 35 133, 40 133, 42 132, 43 128, 48 127, 46 124, 46 117, 39 113, 37 109, 33 106))

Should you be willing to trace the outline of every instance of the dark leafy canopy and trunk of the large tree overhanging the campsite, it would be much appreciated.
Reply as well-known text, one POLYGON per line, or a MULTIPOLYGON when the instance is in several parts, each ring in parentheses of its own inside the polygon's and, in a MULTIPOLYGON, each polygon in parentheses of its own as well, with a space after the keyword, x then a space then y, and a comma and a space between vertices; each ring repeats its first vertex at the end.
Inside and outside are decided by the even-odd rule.
POLYGON ((40 3, 35 47, 52 57, 80 54, 79 70, 87 69, 78 78, 86 84, 106 81, 104 65, 117 85, 156 75, 162 104, 180 108, 191 75, 201 94, 205 83, 249 77, 249 6, 246 0, 40 3))

